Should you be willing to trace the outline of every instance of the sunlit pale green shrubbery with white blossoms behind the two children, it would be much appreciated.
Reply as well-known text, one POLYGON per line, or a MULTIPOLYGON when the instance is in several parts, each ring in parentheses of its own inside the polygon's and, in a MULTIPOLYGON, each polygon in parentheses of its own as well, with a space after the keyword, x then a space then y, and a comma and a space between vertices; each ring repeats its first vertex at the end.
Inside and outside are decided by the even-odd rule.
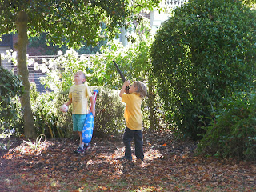
MULTIPOLYGON (((138 26, 137 31, 146 30, 138 26)), ((158 103, 154 78, 150 73, 148 51, 151 41, 150 34, 134 34, 134 43, 122 46, 121 42, 110 42, 102 47, 102 54, 84 55, 75 50, 67 50, 65 54, 44 60, 43 64, 34 63, 35 70, 44 71, 47 76, 41 78, 42 84, 51 93, 38 94, 33 88, 31 103, 36 122, 37 133, 46 134, 48 138, 72 136, 71 108, 67 114, 59 111, 59 106, 68 100, 67 95, 73 84, 74 73, 82 70, 86 73, 86 83, 91 91, 98 89, 94 137, 116 137, 125 127, 123 118, 124 105, 118 96, 122 87, 113 59, 118 63, 127 79, 143 81, 149 86, 149 97, 142 102, 144 128, 161 130, 166 128, 162 120, 162 108, 158 103)), ((33 61, 29 61, 33 62, 33 61)))

